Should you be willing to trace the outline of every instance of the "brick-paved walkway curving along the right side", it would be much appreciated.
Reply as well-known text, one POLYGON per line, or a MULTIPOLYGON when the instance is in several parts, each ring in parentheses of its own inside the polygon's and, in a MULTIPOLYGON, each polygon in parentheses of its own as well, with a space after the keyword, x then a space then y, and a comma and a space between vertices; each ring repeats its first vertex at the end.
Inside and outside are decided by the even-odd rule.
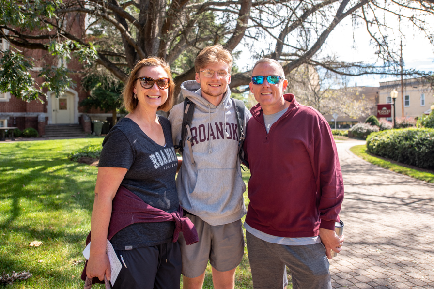
POLYGON ((333 288, 434 289, 434 185, 376 167, 337 141, 345 243, 330 262, 333 288))

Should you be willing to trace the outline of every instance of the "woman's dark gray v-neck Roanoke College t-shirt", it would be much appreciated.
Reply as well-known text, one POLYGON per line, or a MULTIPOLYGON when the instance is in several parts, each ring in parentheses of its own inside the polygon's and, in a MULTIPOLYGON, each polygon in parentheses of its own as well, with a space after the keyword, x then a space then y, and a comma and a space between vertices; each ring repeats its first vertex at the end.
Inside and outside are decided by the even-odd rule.
MULTIPOLYGON (((175 185, 178 160, 171 124, 162 116, 158 120, 165 147, 149 138, 133 120, 122 118, 104 138, 99 167, 128 169, 121 185, 148 205, 172 213, 179 207, 175 185)), ((115 250, 169 243, 174 228, 174 222, 135 223, 116 233, 110 242, 115 250)))

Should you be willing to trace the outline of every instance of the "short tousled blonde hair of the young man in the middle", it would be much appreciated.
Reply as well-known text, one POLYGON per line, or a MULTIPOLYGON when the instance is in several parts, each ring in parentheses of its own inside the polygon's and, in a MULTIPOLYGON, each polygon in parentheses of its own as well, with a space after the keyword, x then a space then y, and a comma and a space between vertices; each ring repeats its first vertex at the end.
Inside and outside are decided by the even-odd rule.
POLYGON ((194 61, 194 70, 199 72, 208 64, 216 62, 228 65, 228 72, 231 73, 233 64, 232 54, 220 44, 203 48, 194 61))

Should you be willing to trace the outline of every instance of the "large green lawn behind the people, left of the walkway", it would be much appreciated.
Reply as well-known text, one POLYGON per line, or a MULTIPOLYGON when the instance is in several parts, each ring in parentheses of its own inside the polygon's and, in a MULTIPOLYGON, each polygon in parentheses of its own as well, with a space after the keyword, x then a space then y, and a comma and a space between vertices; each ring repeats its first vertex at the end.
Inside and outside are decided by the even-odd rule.
MULTIPOLYGON (((79 279, 84 265, 81 252, 90 230, 98 169, 72 162, 68 154, 102 140, 99 137, 0 144, 0 274, 33 274, 3 288, 83 288, 79 279), (29 247, 32 241, 43 244, 29 247)), ((249 177, 249 171, 243 172, 246 184, 249 177)), ((247 205, 247 192, 244 198, 247 205)), ((213 288, 209 265, 203 288, 213 288)), ((235 288, 252 288, 247 248, 236 271, 235 288)))

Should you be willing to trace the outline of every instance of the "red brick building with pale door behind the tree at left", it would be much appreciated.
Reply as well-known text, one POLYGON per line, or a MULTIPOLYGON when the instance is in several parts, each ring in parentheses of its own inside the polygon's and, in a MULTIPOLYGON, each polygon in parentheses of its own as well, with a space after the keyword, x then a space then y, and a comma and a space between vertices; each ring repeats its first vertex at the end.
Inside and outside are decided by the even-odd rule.
MULTIPOLYGON (((84 37, 84 21, 85 15, 71 14, 65 17, 63 27, 66 27, 68 32, 76 37, 84 37)), ((5 31, 7 32, 7 31, 5 31)), ((2 51, 10 48, 10 44, 0 38, 0 49, 2 51)), ((72 73, 69 75, 75 83, 75 87, 70 87, 65 93, 56 98, 54 93, 43 89, 47 97, 41 96, 43 101, 26 102, 20 98, 10 95, 10 93, 0 93, 0 126, 16 126, 20 130, 32 127, 38 130, 40 136, 47 135, 50 127, 62 125, 63 127, 78 126, 82 132, 91 132, 90 118, 105 120, 111 114, 101 113, 97 109, 91 109, 85 112, 84 107, 80 107, 79 103, 86 98, 87 93, 81 87, 82 65, 77 59, 73 58, 66 62, 65 59, 51 56, 49 52, 40 49, 23 49, 24 55, 33 59, 34 68, 31 71, 31 76, 35 78, 38 85, 41 85, 44 79, 36 77, 40 70, 46 65, 58 66, 62 64, 66 66, 72 73)))

